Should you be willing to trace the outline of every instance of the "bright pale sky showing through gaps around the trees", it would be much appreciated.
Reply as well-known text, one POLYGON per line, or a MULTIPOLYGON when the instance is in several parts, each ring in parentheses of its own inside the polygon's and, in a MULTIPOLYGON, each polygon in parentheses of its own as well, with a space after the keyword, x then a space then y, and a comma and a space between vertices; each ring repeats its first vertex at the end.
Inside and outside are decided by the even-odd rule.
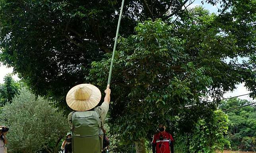
MULTIPOLYGON (((217 13, 219 5, 211 6, 210 4, 206 4, 206 3, 204 3, 204 5, 202 5, 201 1, 202 0, 195 0, 194 3, 191 4, 188 8, 193 8, 195 6, 203 6, 205 9, 209 10, 210 13, 217 13)), ((190 0, 188 2, 190 2, 190 0)), ((239 61, 241 61, 241 59, 239 61)), ((4 76, 7 73, 12 73, 12 70, 13 70, 12 68, 7 68, 6 66, 2 65, 2 63, 0 64, 0 83, 4 82, 4 76)), ((14 75, 13 78, 14 78, 14 80, 19 80, 17 75, 14 75)), ((236 90, 234 90, 233 92, 228 92, 228 93, 224 94, 224 98, 239 96, 239 95, 248 94, 248 93, 250 93, 250 92, 244 87, 244 84, 239 84, 239 85, 237 85, 236 90)), ((252 101, 252 98, 249 98, 248 95, 240 96, 239 98, 252 101)))

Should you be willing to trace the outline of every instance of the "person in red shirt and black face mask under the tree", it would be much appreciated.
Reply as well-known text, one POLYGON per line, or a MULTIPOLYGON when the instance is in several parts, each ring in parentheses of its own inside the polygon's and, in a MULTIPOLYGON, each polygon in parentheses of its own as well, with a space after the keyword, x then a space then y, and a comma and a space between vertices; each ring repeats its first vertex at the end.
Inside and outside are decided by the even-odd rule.
POLYGON ((159 124, 159 132, 154 135, 152 142, 153 153, 174 153, 173 136, 165 131, 166 127, 159 124))

